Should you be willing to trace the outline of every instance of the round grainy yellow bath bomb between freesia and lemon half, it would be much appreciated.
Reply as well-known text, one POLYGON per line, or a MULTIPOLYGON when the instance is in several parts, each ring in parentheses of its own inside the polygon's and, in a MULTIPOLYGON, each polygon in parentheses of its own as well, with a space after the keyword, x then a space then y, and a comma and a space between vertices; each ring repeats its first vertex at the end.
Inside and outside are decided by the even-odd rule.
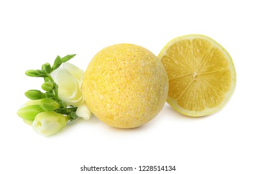
POLYGON ((93 57, 82 91, 98 119, 113 127, 133 128, 150 121, 163 108, 168 75, 149 50, 122 43, 103 48, 93 57))

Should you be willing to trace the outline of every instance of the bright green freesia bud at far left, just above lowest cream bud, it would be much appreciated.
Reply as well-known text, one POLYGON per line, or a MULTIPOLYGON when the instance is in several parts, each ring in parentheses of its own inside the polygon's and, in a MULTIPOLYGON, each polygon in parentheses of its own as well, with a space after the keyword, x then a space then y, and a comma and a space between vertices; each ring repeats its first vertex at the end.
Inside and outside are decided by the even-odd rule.
POLYGON ((37 114, 43 112, 43 109, 39 105, 24 106, 17 111, 17 115, 27 121, 34 121, 37 114))

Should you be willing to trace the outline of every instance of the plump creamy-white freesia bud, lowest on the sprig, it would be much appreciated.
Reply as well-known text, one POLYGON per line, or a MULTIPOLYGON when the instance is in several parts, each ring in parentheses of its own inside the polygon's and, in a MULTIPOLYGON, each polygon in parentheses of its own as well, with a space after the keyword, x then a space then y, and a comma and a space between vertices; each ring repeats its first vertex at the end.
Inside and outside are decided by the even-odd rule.
POLYGON ((59 132, 69 121, 68 117, 54 111, 45 111, 37 114, 32 123, 33 129, 41 135, 49 136, 59 132))

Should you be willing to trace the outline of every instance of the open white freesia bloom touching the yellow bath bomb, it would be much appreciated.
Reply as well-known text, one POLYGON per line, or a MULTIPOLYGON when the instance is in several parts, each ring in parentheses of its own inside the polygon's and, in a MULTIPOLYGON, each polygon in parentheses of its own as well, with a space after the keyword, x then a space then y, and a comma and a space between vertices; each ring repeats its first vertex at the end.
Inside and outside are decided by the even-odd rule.
POLYGON ((52 72, 52 78, 59 86, 59 98, 72 106, 83 103, 82 91, 80 89, 83 70, 71 63, 63 63, 62 67, 52 72))

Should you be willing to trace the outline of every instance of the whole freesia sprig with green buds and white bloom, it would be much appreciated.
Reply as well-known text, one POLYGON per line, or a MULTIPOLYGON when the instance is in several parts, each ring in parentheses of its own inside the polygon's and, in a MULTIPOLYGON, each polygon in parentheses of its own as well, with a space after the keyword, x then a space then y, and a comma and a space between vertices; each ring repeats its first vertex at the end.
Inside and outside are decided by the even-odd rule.
POLYGON ((32 124, 34 130, 39 134, 55 134, 65 127, 68 121, 73 121, 77 119, 78 116, 84 119, 90 118, 91 112, 83 101, 82 91, 80 91, 80 88, 77 88, 77 86, 79 87, 78 84, 80 84, 80 80, 82 80, 81 76, 83 71, 70 63, 65 65, 70 72, 63 68, 63 70, 58 69, 62 63, 65 64, 73 57, 75 57, 75 54, 66 55, 62 58, 57 56, 52 66, 50 63, 44 63, 40 70, 26 71, 27 76, 44 78, 44 83, 41 86, 43 92, 38 89, 26 91, 25 96, 31 99, 31 101, 24 104, 24 106, 17 111, 17 115, 24 119, 25 122, 32 124), (55 72, 57 69, 58 73, 55 72), (60 73, 60 71, 64 71, 64 73, 60 73), (73 78, 71 74, 74 72, 76 72, 74 75, 80 79, 73 78), (65 91, 68 91, 66 89, 62 89, 64 96, 60 97, 59 85, 54 81, 52 76, 54 73, 55 79, 57 79, 59 83, 65 81, 65 85, 62 85, 62 88, 65 88, 67 84, 75 84, 73 85, 75 89, 69 88, 71 90, 69 92, 72 93, 73 97, 75 96, 73 100, 70 96, 65 95, 65 91), (58 76, 59 78, 57 78, 58 76), (76 95, 73 95, 74 93, 76 95))

